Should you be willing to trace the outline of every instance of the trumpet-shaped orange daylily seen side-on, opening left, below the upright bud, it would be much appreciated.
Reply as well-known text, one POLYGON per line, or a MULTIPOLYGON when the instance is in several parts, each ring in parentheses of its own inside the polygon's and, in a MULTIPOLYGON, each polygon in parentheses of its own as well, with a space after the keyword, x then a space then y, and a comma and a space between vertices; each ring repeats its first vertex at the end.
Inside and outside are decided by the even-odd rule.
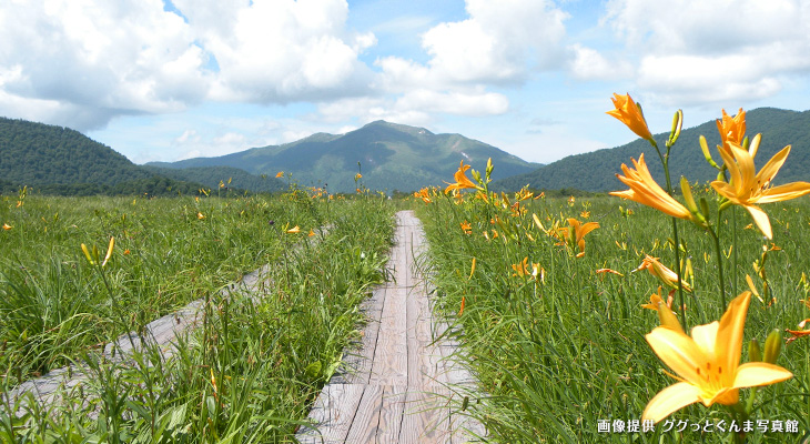
POLYGON ((621 171, 625 175, 616 174, 619 180, 629 186, 629 190, 625 191, 611 191, 611 195, 618 195, 619 198, 629 199, 631 201, 642 203, 647 206, 651 206, 674 218, 692 220, 692 213, 671 195, 667 194, 662 188, 656 183, 647 169, 647 163, 644 160, 644 153, 636 159, 631 159, 635 170, 628 168, 626 164, 621 164, 621 171))

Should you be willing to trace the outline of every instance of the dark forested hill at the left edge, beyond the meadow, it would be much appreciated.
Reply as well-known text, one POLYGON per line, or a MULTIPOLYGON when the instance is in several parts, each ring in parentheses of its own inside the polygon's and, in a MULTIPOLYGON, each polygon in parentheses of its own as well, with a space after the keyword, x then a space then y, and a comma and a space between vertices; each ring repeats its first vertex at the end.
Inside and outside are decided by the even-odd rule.
POLYGON ((132 163, 69 128, 0 118, 0 193, 34 186, 48 194, 175 194, 216 188, 233 178, 232 189, 275 191, 284 182, 263 180, 231 168, 189 171, 145 168, 132 163))

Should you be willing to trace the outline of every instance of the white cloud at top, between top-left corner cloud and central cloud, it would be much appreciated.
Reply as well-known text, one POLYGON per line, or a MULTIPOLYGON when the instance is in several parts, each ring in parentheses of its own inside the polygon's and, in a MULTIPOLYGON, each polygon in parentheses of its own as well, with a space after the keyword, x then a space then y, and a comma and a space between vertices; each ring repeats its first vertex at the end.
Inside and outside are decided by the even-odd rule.
POLYGON ((174 3, 216 60, 215 99, 286 103, 365 89, 369 71, 357 57, 376 39, 345 29, 345 1, 174 3))

